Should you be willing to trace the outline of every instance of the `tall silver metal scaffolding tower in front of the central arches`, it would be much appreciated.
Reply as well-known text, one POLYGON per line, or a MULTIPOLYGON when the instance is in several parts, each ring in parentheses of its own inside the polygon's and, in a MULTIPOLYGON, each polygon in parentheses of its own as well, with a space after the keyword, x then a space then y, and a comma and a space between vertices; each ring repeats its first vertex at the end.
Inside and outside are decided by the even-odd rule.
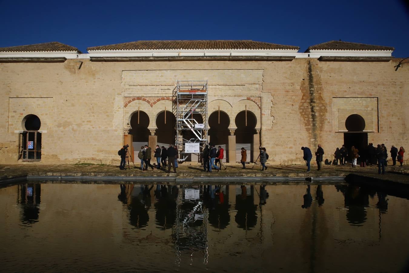
POLYGON ((178 81, 173 98, 176 145, 179 160, 184 161, 189 156, 186 143, 199 143, 202 148, 207 144, 207 81, 178 81))

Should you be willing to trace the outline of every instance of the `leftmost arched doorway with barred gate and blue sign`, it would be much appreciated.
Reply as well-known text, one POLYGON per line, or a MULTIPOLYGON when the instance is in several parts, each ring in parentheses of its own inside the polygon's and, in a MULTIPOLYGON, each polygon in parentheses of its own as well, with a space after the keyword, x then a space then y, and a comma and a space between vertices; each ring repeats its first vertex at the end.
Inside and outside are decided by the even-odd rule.
POLYGON ((41 127, 40 118, 36 115, 27 115, 21 123, 23 132, 20 133, 20 151, 18 159, 23 161, 41 160, 41 127))

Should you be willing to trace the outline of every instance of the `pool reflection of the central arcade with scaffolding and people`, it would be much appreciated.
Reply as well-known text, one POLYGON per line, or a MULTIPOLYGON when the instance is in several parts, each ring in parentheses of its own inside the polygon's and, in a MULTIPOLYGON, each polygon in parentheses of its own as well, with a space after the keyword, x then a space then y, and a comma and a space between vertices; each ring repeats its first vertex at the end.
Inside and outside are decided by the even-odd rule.
POLYGON ((269 197, 263 185, 256 188, 253 185, 129 184, 120 188, 118 199, 126 205, 129 223, 138 230, 138 235, 124 232, 124 236, 131 241, 154 238, 159 242, 160 235, 155 229, 170 230, 177 263, 181 263, 185 256, 207 263, 209 229, 217 231, 225 243, 233 243, 237 236, 241 236, 231 236, 237 228, 249 239, 260 237, 261 224, 257 220, 261 209, 258 208, 265 205, 269 197), (155 222, 151 220, 153 214, 155 222), (230 225, 231 217, 237 226, 230 225))

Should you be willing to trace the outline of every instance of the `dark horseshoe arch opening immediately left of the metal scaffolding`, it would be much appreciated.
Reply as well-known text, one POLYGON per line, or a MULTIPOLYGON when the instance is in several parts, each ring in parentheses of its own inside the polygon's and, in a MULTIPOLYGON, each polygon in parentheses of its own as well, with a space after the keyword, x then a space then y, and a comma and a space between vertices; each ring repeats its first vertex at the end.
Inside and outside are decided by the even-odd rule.
POLYGON ((175 116, 170 111, 162 111, 156 117, 156 126, 157 144, 160 147, 164 146, 167 149, 169 147, 169 144, 175 143, 175 116))

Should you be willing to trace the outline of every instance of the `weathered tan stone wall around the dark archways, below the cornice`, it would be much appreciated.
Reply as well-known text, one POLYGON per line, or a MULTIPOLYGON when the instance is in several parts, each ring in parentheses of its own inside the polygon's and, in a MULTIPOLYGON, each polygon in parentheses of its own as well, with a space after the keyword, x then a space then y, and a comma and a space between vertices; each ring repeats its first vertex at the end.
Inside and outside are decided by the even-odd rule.
POLYGON ((148 113, 155 129, 164 107, 171 111, 178 79, 207 79, 209 115, 220 106, 230 129, 247 106, 270 163, 301 163, 300 147, 313 151, 317 144, 331 158, 344 141, 345 117, 354 113, 374 131, 369 142, 409 147, 409 66, 395 71, 398 61, 0 63, 0 163, 21 162, 17 132, 28 114, 40 118, 43 131, 42 160, 35 164, 117 163, 132 113, 148 113))

